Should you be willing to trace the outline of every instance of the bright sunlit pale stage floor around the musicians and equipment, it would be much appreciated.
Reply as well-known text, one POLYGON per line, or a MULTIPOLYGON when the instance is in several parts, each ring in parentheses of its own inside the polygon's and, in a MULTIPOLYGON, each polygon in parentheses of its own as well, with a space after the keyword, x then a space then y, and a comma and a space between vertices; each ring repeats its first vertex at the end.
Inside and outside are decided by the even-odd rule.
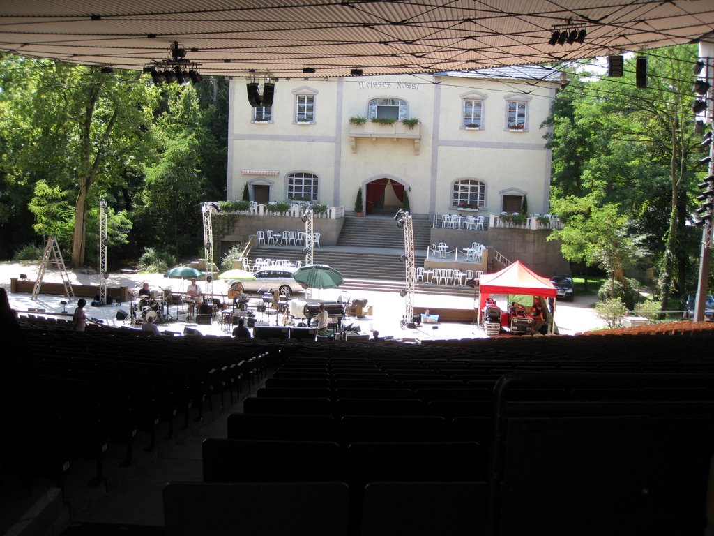
MULTIPOLYGON (((0 263, 0 285, 6 289, 10 299, 10 304, 13 309, 19 312, 21 316, 26 314, 36 314, 41 316, 42 312, 33 312, 31 309, 44 309, 46 314, 52 313, 56 317, 66 317, 71 319, 71 313, 76 307, 76 299, 68 303, 66 306, 61 304, 61 301, 67 301, 66 297, 58 294, 42 294, 40 291, 37 299, 31 299, 31 292, 10 292, 11 279, 18 278, 20 274, 26 275, 29 281, 36 279, 37 264, 27 263, 0 263), (66 311, 66 315, 63 312, 66 311), (61 316, 60 316, 61 315, 61 316)), ((70 281, 77 285, 97 285, 99 284, 99 276, 97 274, 87 274, 84 272, 71 271, 69 272, 70 281)), ((59 272, 54 269, 48 269, 44 276, 44 283, 61 282, 59 272)), ((112 272, 109 274, 108 286, 111 288, 127 287, 130 292, 135 293, 141 288, 144 282, 148 282, 151 289, 157 292, 180 292, 186 288, 187 282, 180 279, 168 279, 162 274, 125 274, 120 272, 112 272)), ((202 290, 206 289, 206 282, 199 281, 202 290)), ((400 297, 399 290, 402 285, 395 283, 393 292, 375 292, 361 291, 356 289, 313 289, 313 299, 321 299, 324 301, 336 302, 342 297, 343 302, 351 302, 353 299, 366 299, 367 306, 371 306, 371 314, 363 318, 355 316, 346 317, 343 319, 343 325, 352 324, 354 327, 359 327, 362 334, 371 334, 373 329, 379 331, 380 337, 393 337, 395 339, 407 339, 413 341, 419 340, 444 340, 444 339, 468 339, 468 338, 485 338, 486 332, 480 326, 473 322, 436 322, 435 324, 421 324, 416 329, 401 329, 400 320, 404 311, 404 298, 400 297)), ((227 294, 227 283, 221 280, 216 280, 213 286, 214 297, 221 299, 226 303, 230 303, 224 294, 227 294)), ((282 314, 271 314, 266 312, 257 312, 257 305, 263 302, 261 294, 248 294, 250 300, 249 310, 255 314, 256 322, 262 322, 272 326, 283 324, 282 314)), ((304 299, 304 293, 293 294, 291 299, 304 299)), ((102 320, 105 326, 124 327, 126 329, 141 329, 141 324, 132 325, 131 317, 126 319, 118 319, 119 311, 129 313, 131 311, 132 302, 122 302, 119 305, 111 304, 102 307, 92 307, 92 298, 86 298, 87 305, 85 307, 86 316, 102 320)), ((558 324, 560 334, 575 334, 578 332, 588 331, 602 327, 604 322, 595 317, 592 310, 592 299, 588 297, 576 297, 575 302, 558 302, 555 313, 555 323, 558 324)), ((134 304, 137 304, 134 301, 134 304)), ((420 294, 416 293, 414 297, 414 307, 417 312, 423 309, 430 309, 430 312, 435 312, 439 309, 447 309, 456 311, 464 315, 464 317, 473 317, 471 314, 474 307, 478 307, 478 296, 476 293, 473 297, 456 297, 446 294, 420 294)), ((212 335, 216 337, 230 337, 233 329, 232 325, 226 324, 221 326, 220 317, 215 316, 211 320, 211 324, 197 324, 195 320, 187 318, 185 306, 177 307, 170 305, 168 307, 169 315, 173 318, 171 322, 159 323, 161 332, 169 332, 171 335, 183 335, 184 332, 198 332, 203 335, 212 335), (186 328, 189 328, 186 330, 186 328)), ((229 309, 232 309, 229 305, 229 309)), ((293 308, 294 309, 294 308, 293 308)), ((165 309, 166 311, 166 309, 165 309)), ((119 317, 122 315, 119 314, 119 317)), ((164 314, 166 316, 166 314, 164 314)), ((217 316, 217 315, 216 315, 217 316)), ((301 322, 301 319, 293 319, 293 324, 301 322)), ((306 323, 305 321, 302 321, 306 323)), ((68 324, 69 329, 69 324, 68 324)), ((252 329, 251 329, 252 331, 252 329)))

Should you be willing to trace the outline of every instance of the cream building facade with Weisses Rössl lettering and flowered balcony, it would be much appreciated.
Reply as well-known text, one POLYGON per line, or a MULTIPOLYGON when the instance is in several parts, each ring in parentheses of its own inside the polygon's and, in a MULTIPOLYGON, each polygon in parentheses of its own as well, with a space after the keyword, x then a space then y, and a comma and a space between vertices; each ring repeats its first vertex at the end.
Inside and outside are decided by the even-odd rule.
MULTIPOLYGON (((264 81, 256 81, 266 99, 264 81)), ((523 197, 528 212, 548 212, 550 150, 541 124, 560 86, 558 71, 273 82, 272 105, 253 107, 247 81, 231 81, 228 200, 241 199, 247 183, 259 204, 304 197, 348 213, 360 188, 366 214, 393 214, 404 191, 416 217, 459 206, 484 216, 518 212, 523 197), (366 121, 350 121, 357 117, 366 121), (418 124, 409 128, 402 119, 418 124)))

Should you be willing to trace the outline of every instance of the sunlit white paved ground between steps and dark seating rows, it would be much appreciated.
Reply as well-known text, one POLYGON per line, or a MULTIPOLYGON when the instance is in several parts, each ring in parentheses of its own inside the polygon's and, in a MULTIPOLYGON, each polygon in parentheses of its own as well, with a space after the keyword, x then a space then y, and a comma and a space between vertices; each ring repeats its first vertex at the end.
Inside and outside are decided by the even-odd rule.
MULTIPOLYGON (((19 277, 20 274, 26 274, 28 279, 34 281, 38 272, 39 263, 16 263, 16 262, 0 262, 0 286, 4 287, 8 292, 11 307, 17 311, 27 311, 28 309, 45 309, 46 312, 62 313, 64 310, 71 314, 74 311, 74 303, 64 307, 60 302, 64 297, 57 295, 40 294, 36 300, 32 300, 28 293, 11 293, 10 279, 11 277, 19 277)), ((86 273, 86 271, 71 271, 69 272, 71 282, 76 284, 99 284, 99 275, 94 273, 86 273)), ((59 272, 54 269, 48 269, 44 276, 44 282, 61 282, 59 272)), ((186 288, 186 282, 180 279, 169 279, 162 274, 121 274, 111 273, 107 284, 109 287, 129 287, 129 289, 141 288, 144 282, 149 282, 151 289, 163 290, 172 289, 174 291, 186 288)), ((205 289, 206 283, 200 282, 201 287, 205 289)), ((221 294, 227 292, 226 282, 216 280, 213 292, 221 294)), ((428 325, 422 324, 418 329, 401 329, 399 322, 401 320, 405 301, 399 296, 398 290, 403 285, 395 284, 393 292, 372 292, 351 290, 349 292, 341 289, 324 289, 319 292, 313 291, 313 298, 337 300, 342 297, 343 300, 350 299, 367 299, 368 304, 373 305, 373 315, 364 319, 346 319, 346 323, 358 325, 362 332, 371 332, 372 329, 378 329, 383 337, 395 338, 413 338, 413 339, 464 339, 464 338, 483 338, 486 334, 483 329, 473 324, 458 324, 450 322, 439 322, 438 324, 428 325)), ((301 295, 298 295, 298 298, 301 295)), ((253 303, 261 301, 259 297, 253 296, 253 303)), ((91 302, 91 300, 88 300, 91 302)), ((555 310, 555 323, 558 325, 560 334, 575 334, 585 332, 591 329, 598 329, 605 325, 603 320, 595 316, 593 310, 594 297, 577 296, 573 302, 558 302, 555 310)), ((449 295, 434 295, 434 294, 416 294, 414 304, 417 307, 427 308, 453 308, 453 309, 473 309, 476 301, 474 297, 456 297, 449 295)), ((122 309, 129 312, 131 304, 120 304, 119 306, 111 305, 104 307, 86 306, 87 317, 101 319, 105 324, 115 327, 132 327, 129 319, 118 320, 117 312, 122 309)), ((169 309, 171 316, 178 318, 175 322, 168 322, 159 325, 161 331, 172 331, 177 334, 183 334, 185 327, 197 329, 202 334, 213 334, 218 336, 228 336, 228 329, 223 331, 220 322, 213 322, 211 325, 198 325, 193 322, 186 322, 186 314, 177 312, 175 306, 169 309)), ((265 315, 261 317, 258 313, 258 320, 276 324, 279 322, 274 316, 265 315)))

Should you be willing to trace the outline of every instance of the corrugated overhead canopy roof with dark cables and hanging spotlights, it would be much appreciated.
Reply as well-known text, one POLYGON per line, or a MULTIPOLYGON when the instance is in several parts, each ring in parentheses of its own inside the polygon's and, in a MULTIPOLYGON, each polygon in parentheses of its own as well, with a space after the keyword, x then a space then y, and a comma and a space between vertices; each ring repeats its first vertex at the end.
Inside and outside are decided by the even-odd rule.
POLYGON ((204 75, 260 79, 540 64, 688 43, 713 29, 711 0, 0 4, 0 51, 137 71, 176 59, 204 75), (556 31, 570 42, 551 44, 556 31))

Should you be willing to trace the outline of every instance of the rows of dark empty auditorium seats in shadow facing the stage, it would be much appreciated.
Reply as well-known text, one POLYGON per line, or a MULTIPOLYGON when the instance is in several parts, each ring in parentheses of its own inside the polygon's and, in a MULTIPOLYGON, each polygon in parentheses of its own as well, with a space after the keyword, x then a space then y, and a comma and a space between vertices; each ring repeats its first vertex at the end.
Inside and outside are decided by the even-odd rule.
POLYGON ((231 408, 203 481, 164 487, 166 535, 701 534, 714 333, 686 324, 418 345, 23 332, 49 396, 71 391, 61 447, 99 479, 102 441, 131 460, 231 408))

